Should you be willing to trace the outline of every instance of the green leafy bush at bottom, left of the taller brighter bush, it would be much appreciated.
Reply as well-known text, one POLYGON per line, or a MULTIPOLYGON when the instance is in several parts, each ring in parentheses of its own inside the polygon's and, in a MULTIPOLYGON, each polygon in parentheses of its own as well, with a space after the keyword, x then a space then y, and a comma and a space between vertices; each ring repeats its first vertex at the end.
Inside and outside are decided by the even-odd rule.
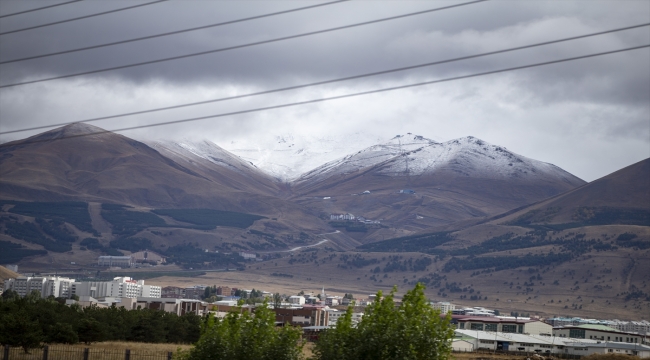
MULTIPOLYGON (((275 313, 266 302, 248 311, 230 312, 223 319, 205 318, 196 346, 177 355, 181 360, 296 360, 302 358, 300 328, 276 328, 275 313)), ((176 358, 175 358, 176 359, 176 358)))

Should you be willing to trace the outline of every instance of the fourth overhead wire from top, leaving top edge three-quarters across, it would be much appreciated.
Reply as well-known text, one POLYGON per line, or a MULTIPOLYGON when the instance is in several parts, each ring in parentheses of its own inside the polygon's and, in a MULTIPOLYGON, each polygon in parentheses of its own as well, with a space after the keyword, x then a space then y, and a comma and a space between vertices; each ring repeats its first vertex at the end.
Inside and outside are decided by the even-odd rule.
POLYGON ((323 33, 332 32, 332 31, 350 29, 350 28, 353 28, 353 27, 376 24, 376 23, 383 22, 383 21, 396 20, 396 19, 401 19, 401 18, 415 16, 415 15, 422 15, 422 14, 431 13, 431 12, 434 12, 434 11, 447 10, 447 9, 451 9, 451 8, 456 8, 456 7, 460 7, 460 6, 481 3, 481 2, 485 2, 485 1, 488 1, 488 0, 475 0, 475 1, 470 1, 470 2, 466 2, 466 3, 455 4, 455 5, 450 5, 450 6, 444 6, 444 7, 429 9, 429 10, 424 10, 424 11, 417 11, 417 12, 413 12, 413 13, 408 13, 408 14, 403 14, 403 15, 398 15, 398 16, 391 16, 391 17, 377 19, 377 20, 365 21, 365 22, 351 24, 351 25, 338 26, 338 27, 324 29, 324 30, 310 31, 310 32, 297 34, 297 35, 290 35, 290 36, 284 36, 284 37, 279 37, 279 38, 275 38, 275 39, 257 41, 257 42, 248 43, 248 44, 229 46, 229 47, 215 49, 215 50, 201 51, 201 52, 198 52, 198 53, 179 55, 179 56, 172 56, 172 57, 162 58, 162 59, 158 59, 158 60, 143 61, 143 62, 129 64, 129 65, 114 66, 114 67, 110 67, 110 68, 91 70, 91 71, 84 71, 84 72, 68 74, 68 75, 53 76, 53 77, 39 79, 39 80, 31 80, 31 81, 24 81, 24 82, 19 82, 19 83, 14 83, 14 84, 0 85, 0 88, 7 88, 7 87, 12 87, 12 86, 34 84, 34 83, 39 83, 39 82, 44 82, 44 81, 65 79, 65 78, 81 76, 81 75, 96 74, 96 73, 100 73, 100 72, 119 70, 119 69, 126 69, 126 68, 135 67, 135 66, 142 66, 142 65, 161 63, 161 62, 165 62, 165 61, 185 59, 185 58, 190 58, 190 57, 194 57, 194 56, 214 54, 214 53, 223 52, 223 51, 241 49, 241 48, 246 48, 246 47, 251 47, 251 46, 256 46, 256 45, 263 45, 263 44, 269 44, 269 43, 273 43, 273 42, 296 39, 296 38, 301 38, 301 37, 306 37, 306 36, 311 36, 311 35, 323 34, 323 33))

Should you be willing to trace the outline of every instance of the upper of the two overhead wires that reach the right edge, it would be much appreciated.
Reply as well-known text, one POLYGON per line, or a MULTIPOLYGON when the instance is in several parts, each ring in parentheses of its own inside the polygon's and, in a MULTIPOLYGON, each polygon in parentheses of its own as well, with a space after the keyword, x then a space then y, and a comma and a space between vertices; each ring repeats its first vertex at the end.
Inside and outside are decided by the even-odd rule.
POLYGON ((301 89, 301 88, 306 88, 306 87, 311 87, 311 86, 318 86, 318 85, 331 84, 331 83, 340 82, 340 81, 346 81, 346 80, 360 79, 360 78, 376 76, 376 75, 389 74, 389 73, 398 72, 398 71, 412 70, 412 69, 416 69, 416 68, 422 68, 422 67, 427 67, 427 66, 451 63, 451 62, 456 62, 456 61, 461 61, 461 60, 475 59, 475 58, 479 58, 479 57, 483 57, 483 56, 502 54, 502 53, 506 53, 506 52, 529 49, 529 48, 538 47, 538 46, 544 46, 544 45, 556 44, 556 43, 566 42, 566 41, 571 41, 571 40, 583 39, 583 38, 587 38, 587 37, 593 37, 593 36, 604 35, 604 34, 609 34, 609 33, 618 32, 618 31, 630 30, 630 29, 640 28, 640 27, 644 27, 644 26, 650 26, 650 23, 627 26, 627 27, 611 29, 611 30, 605 30, 605 31, 599 31, 599 32, 591 33, 591 34, 572 36, 572 37, 563 38, 563 39, 544 41, 544 42, 536 43, 536 44, 518 46, 518 47, 514 47, 514 48, 490 51, 490 52, 486 52, 486 53, 480 53, 480 54, 474 54, 474 55, 468 55, 468 56, 462 56, 462 57, 458 57, 458 58, 439 60, 439 61, 434 61, 434 62, 429 62, 429 63, 424 63, 424 64, 405 66, 405 67, 400 67, 400 68, 396 68, 396 69, 382 70, 382 71, 376 71, 376 72, 360 74, 360 75, 353 75, 353 76, 348 76, 348 77, 343 77, 343 78, 338 78, 338 79, 330 79, 330 80, 318 81, 318 82, 313 82, 313 83, 309 83, 309 84, 288 86, 288 87, 283 87, 283 88, 278 88, 278 89, 271 89, 271 90, 259 91, 259 92, 242 94, 242 95, 234 95, 234 96, 228 96, 228 97, 211 99, 211 100, 197 101, 197 102, 187 103, 187 104, 165 106, 165 107, 162 107, 162 108, 134 111, 134 112, 129 112, 129 113, 117 114, 117 115, 102 116, 102 117, 90 118, 90 119, 85 119, 85 120, 69 121, 69 122, 65 122, 65 123, 58 123, 58 124, 44 125, 44 126, 35 126, 35 127, 24 128, 24 129, 20 129, 20 130, 4 131, 4 132, 0 132, 0 135, 17 133, 17 132, 24 132, 24 131, 30 131, 30 130, 39 130, 39 129, 45 129, 45 128, 50 128, 50 127, 54 127, 54 126, 63 126, 63 125, 73 124, 73 123, 76 123, 76 122, 88 123, 88 122, 94 122, 94 121, 99 121, 99 120, 107 120, 107 119, 113 119, 113 118, 118 118, 118 117, 140 115, 140 114, 146 114, 146 113, 152 113, 152 112, 164 111, 164 110, 179 109, 179 108, 183 108, 183 107, 196 106, 196 105, 204 105, 204 104, 221 102, 221 101, 226 101, 226 100, 241 99, 241 98, 257 96, 257 95, 266 95, 266 94, 272 94, 272 93, 288 91, 288 90, 296 90, 296 89, 301 89))

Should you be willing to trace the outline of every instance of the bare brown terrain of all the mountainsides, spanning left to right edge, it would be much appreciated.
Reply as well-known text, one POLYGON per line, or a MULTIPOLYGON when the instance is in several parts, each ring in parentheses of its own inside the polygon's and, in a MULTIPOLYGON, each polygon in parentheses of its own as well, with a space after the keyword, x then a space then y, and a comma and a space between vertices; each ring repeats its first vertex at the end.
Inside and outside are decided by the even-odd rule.
POLYGON ((422 281, 432 300, 504 313, 620 319, 650 313, 650 160, 585 185, 577 178, 454 177, 444 169, 391 178, 380 174, 381 165, 296 186, 287 196, 292 189, 225 151, 210 161, 112 133, 88 135, 94 131, 101 129, 76 124, 0 147, 0 246, 43 250, 6 233, 9 223, 38 228, 34 216, 11 212, 11 201, 82 201, 96 232, 66 222, 77 239, 71 250, 26 257, 21 270, 96 272, 102 252, 81 246, 81 239, 95 237, 108 247, 119 238, 102 204, 129 205, 129 214, 205 208, 265 218, 247 228, 206 230, 161 215, 164 226, 143 226, 133 236, 150 240, 154 250, 190 244, 255 251, 266 260, 201 276, 177 276, 186 271, 177 265, 130 270, 133 276, 174 271, 147 281, 288 295, 325 287, 357 297, 393 285, 403 293, 422 281), (416 193, 398 194, 402 188, 416 193), (364 190, 371 193, 351 195, 364 190), (329 214, 345 212, 383 221, 365 231, 331 227, 329 214), (298 246, 304 247, 288 251, 298 246))

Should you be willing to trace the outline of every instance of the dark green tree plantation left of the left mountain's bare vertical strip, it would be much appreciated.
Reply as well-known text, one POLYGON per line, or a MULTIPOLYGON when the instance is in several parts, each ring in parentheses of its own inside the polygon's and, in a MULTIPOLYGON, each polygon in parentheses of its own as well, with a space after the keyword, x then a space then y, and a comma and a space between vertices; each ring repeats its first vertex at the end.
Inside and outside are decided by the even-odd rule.
POLYGON ((49 220, 64 221, 74 225, 77 229, 91 233, 95 236, 100 234, 93 229, 88 212, 88 204, 80 201, 59 201, 59 202, 22 202, 3 201, 3 204, 13 204, 9 212, 25 216, 45 218, 49 220))

